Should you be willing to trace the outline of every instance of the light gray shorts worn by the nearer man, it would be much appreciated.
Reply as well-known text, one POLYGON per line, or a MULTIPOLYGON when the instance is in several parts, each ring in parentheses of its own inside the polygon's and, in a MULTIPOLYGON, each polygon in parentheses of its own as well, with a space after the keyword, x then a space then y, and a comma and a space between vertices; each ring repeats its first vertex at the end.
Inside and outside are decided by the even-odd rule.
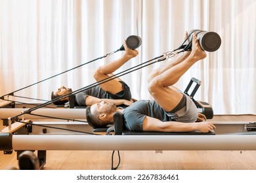
POLYGON ((176 122, 184 122, 184 123, 191 123, 196 122, 198 118, 198 108, 190 99, 188 95, 186 96, 186 106, 182 107, 180 110, 178 110, 175 113, 166 112, 168 116, 171 116, 171 118, 176 122))

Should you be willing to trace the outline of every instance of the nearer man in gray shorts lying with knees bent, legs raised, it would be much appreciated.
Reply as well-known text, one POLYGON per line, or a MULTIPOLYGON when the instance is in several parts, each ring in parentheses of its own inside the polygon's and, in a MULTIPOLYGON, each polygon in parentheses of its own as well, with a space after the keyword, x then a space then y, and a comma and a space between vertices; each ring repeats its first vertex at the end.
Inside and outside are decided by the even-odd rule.
POLYGON ((114 103, 101 101, 87 107, 88 124, 94 128, 106 127, 114 123, 114 113, 119 111, 123 114, 125 126, 130 131, 212 131, 215 125, 205 121, 205 116, 198 113, 190 97, 170 87, 194 63, 205 57, 206 53, 193 34, 192 51, 179 54, 173 61, 156 69, 148 77, 148 91, 154 100, 137 101, 125 109, 117 108, 114 103))

